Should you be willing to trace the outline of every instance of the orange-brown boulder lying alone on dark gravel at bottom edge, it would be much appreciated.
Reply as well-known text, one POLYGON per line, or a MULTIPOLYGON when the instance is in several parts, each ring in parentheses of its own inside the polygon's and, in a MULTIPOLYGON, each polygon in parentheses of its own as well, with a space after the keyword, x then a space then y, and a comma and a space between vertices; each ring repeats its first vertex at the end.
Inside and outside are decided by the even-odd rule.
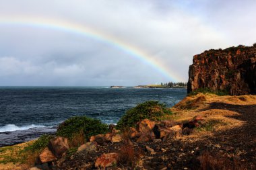
POLYGON ((95 167, 111 167, 117 165, 119 155, 117 153, 103 154, 97 158, 95 167))

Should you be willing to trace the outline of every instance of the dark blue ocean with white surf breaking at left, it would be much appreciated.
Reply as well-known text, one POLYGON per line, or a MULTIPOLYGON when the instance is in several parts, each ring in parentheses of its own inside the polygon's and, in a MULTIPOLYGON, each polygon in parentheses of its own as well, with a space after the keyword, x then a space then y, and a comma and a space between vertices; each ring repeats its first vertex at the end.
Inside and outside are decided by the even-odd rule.
POLYGON ((157 100, 168 107, 187 95, 187 89, 126 87, 0 87, 0 146, 54 133, 72 116, 88 116, 116 124, 126 110, 157 100))

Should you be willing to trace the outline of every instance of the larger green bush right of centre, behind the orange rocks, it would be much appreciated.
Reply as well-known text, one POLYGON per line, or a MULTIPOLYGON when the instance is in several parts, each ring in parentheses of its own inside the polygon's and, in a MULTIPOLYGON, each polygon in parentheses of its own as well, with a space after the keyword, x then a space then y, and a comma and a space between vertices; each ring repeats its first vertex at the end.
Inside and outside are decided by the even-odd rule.
POLYGON ((135 108, 125 112, 125 115, 117 122, 117 129, 134 127, 137 122, 143 119, 160 120, 162 116, 172 114, 166 105, 158 101, 146 101, 135 108))

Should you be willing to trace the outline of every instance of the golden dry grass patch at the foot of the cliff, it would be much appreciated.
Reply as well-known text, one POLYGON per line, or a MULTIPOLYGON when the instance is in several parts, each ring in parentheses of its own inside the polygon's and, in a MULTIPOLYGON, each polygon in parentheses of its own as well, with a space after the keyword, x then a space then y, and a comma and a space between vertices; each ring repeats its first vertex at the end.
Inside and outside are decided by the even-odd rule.
POLYGON ((206 136, 212 136, 215 131, 228 130, 243 126, 245 122, 232 118, 238 116, 240 113, 226 109, 226 105, 255 105, 255 95, 241 95, 241 96, 218 96, 214 94, 192 95, 185 97, 182 101, 177 103, 171 110, 174 113, 173 117, 175 121, 179 123, 192 120, 195 116, 201 116, 203 118, 203 124, 211 124, 211 122, 221 122, 218 124, 212 124, 209 127, 210 130, 195 130, 190 136, 183 136, 182 138, 195 139, 206 138, 206 136), (213 104, 222 103, 224 108, 216 108, 211 106, 213 104), (192 109, 191 109, 192 108, 192 109))

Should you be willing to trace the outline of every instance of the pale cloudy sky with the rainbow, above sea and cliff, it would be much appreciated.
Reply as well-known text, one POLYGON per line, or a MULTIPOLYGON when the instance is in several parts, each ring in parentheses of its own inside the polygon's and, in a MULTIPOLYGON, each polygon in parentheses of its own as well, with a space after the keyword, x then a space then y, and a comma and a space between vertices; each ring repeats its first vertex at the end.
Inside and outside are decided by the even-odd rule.
POLYGON ((256 1, 0 0, 0 86, 188 80, 193 56, 256 42, 256 1))

